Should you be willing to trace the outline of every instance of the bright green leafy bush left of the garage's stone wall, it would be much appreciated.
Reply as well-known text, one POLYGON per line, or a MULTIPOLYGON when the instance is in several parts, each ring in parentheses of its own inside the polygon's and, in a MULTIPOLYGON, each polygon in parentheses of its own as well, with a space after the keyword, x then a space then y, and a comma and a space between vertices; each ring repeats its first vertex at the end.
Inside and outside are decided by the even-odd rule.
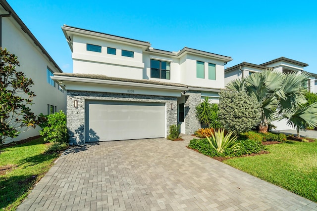
POLYGON ((66 143, 68 141, 66 115, 64 112, 59 111, 54 114, 44 116, 40 115, 41 123, 39 126, 40 135, 46 136, 44 141, 54 143, 66 143))

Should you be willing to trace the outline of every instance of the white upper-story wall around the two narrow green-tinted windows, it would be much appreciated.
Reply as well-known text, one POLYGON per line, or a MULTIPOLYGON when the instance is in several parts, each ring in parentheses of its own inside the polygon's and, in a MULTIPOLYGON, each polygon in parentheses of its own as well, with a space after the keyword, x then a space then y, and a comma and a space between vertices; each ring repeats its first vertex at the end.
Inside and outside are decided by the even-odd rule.
POLYGON ((182 64, 182 77, 180 83, 189 86, 209 88, 224 88, 224 62, 203 56, 187 54, 186 61, 182 64), (196 75, 197 61, 205 62, 205 78, 199 79, 196 75), (216 80, 208 79, 208 63, 215 64, 216 80))

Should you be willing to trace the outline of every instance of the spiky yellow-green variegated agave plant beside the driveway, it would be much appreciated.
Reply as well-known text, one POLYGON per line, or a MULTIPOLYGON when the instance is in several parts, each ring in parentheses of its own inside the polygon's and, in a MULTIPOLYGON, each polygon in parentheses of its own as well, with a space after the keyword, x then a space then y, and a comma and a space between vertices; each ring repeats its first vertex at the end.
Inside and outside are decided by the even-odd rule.
POLYGON ((231 137, 232 132, 224 134, 224 129, 218 129, 211 133, 211 138, 206 136, 211 146, 217 150, 218 153, 222 153, 225 149, 231 149, 237 151, 240 149, 240 144, 236 142, 237 136, 231 137))

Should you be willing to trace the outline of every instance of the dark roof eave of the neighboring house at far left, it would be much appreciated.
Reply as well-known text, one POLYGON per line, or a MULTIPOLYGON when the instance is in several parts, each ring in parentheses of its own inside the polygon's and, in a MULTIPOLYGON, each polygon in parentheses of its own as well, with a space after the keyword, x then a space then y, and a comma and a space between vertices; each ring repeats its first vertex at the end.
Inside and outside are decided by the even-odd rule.
MULTIPOLYGON (((42 53, 50 60, 50 62, 53 63, 55 68, 59 72, 63 72, 58 65, 55 63, 53 58, 50 56, 50 54, 45 50, 45 48, 42 46, 42 44, 34 37, 34 35, 31 33, 31 31, 26 27, 26 25, 23 23, 23 21, 19 18, 19 16, 14 12, 12 7, 6 2, 6 0, 0 0, 1 6, 8 12, 7 14, 10 14, 10 16, 21 26, 21 29, 23 30, 24 33, 26 33, 31 40, 34 42, 35 45, 37 45, 42 53)), ((1 15, 6 15, 6 14, 1 14, 1 15)), ((2 47, 2 46, 1 46, 2 47)), ((5 46, 4 46, 5 47, 5 46)))

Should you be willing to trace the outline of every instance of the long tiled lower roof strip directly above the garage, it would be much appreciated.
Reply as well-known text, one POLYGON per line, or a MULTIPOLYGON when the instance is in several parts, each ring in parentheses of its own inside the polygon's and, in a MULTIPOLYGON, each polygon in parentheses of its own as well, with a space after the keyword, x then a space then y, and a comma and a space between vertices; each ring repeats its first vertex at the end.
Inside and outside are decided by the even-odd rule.
POLYGON ((152 80, 146 80, 146 79, 136 80, 136 79, 115 78, 115 77, 108 77, 108 76, 105 76, 105 75, 95 75, 95 74, 54 73, 54 77, 55 76, 84 78, 84 79, 99 79, 99 80, 117 81, 117 82, 132 82, 132 83, 139 83, 139 84, 155 84, 155 85, 177 86, 177 87, 187 88, 187 85, 184 85, 184 84, 159 82, 159 81, 152 81, 152 80))

